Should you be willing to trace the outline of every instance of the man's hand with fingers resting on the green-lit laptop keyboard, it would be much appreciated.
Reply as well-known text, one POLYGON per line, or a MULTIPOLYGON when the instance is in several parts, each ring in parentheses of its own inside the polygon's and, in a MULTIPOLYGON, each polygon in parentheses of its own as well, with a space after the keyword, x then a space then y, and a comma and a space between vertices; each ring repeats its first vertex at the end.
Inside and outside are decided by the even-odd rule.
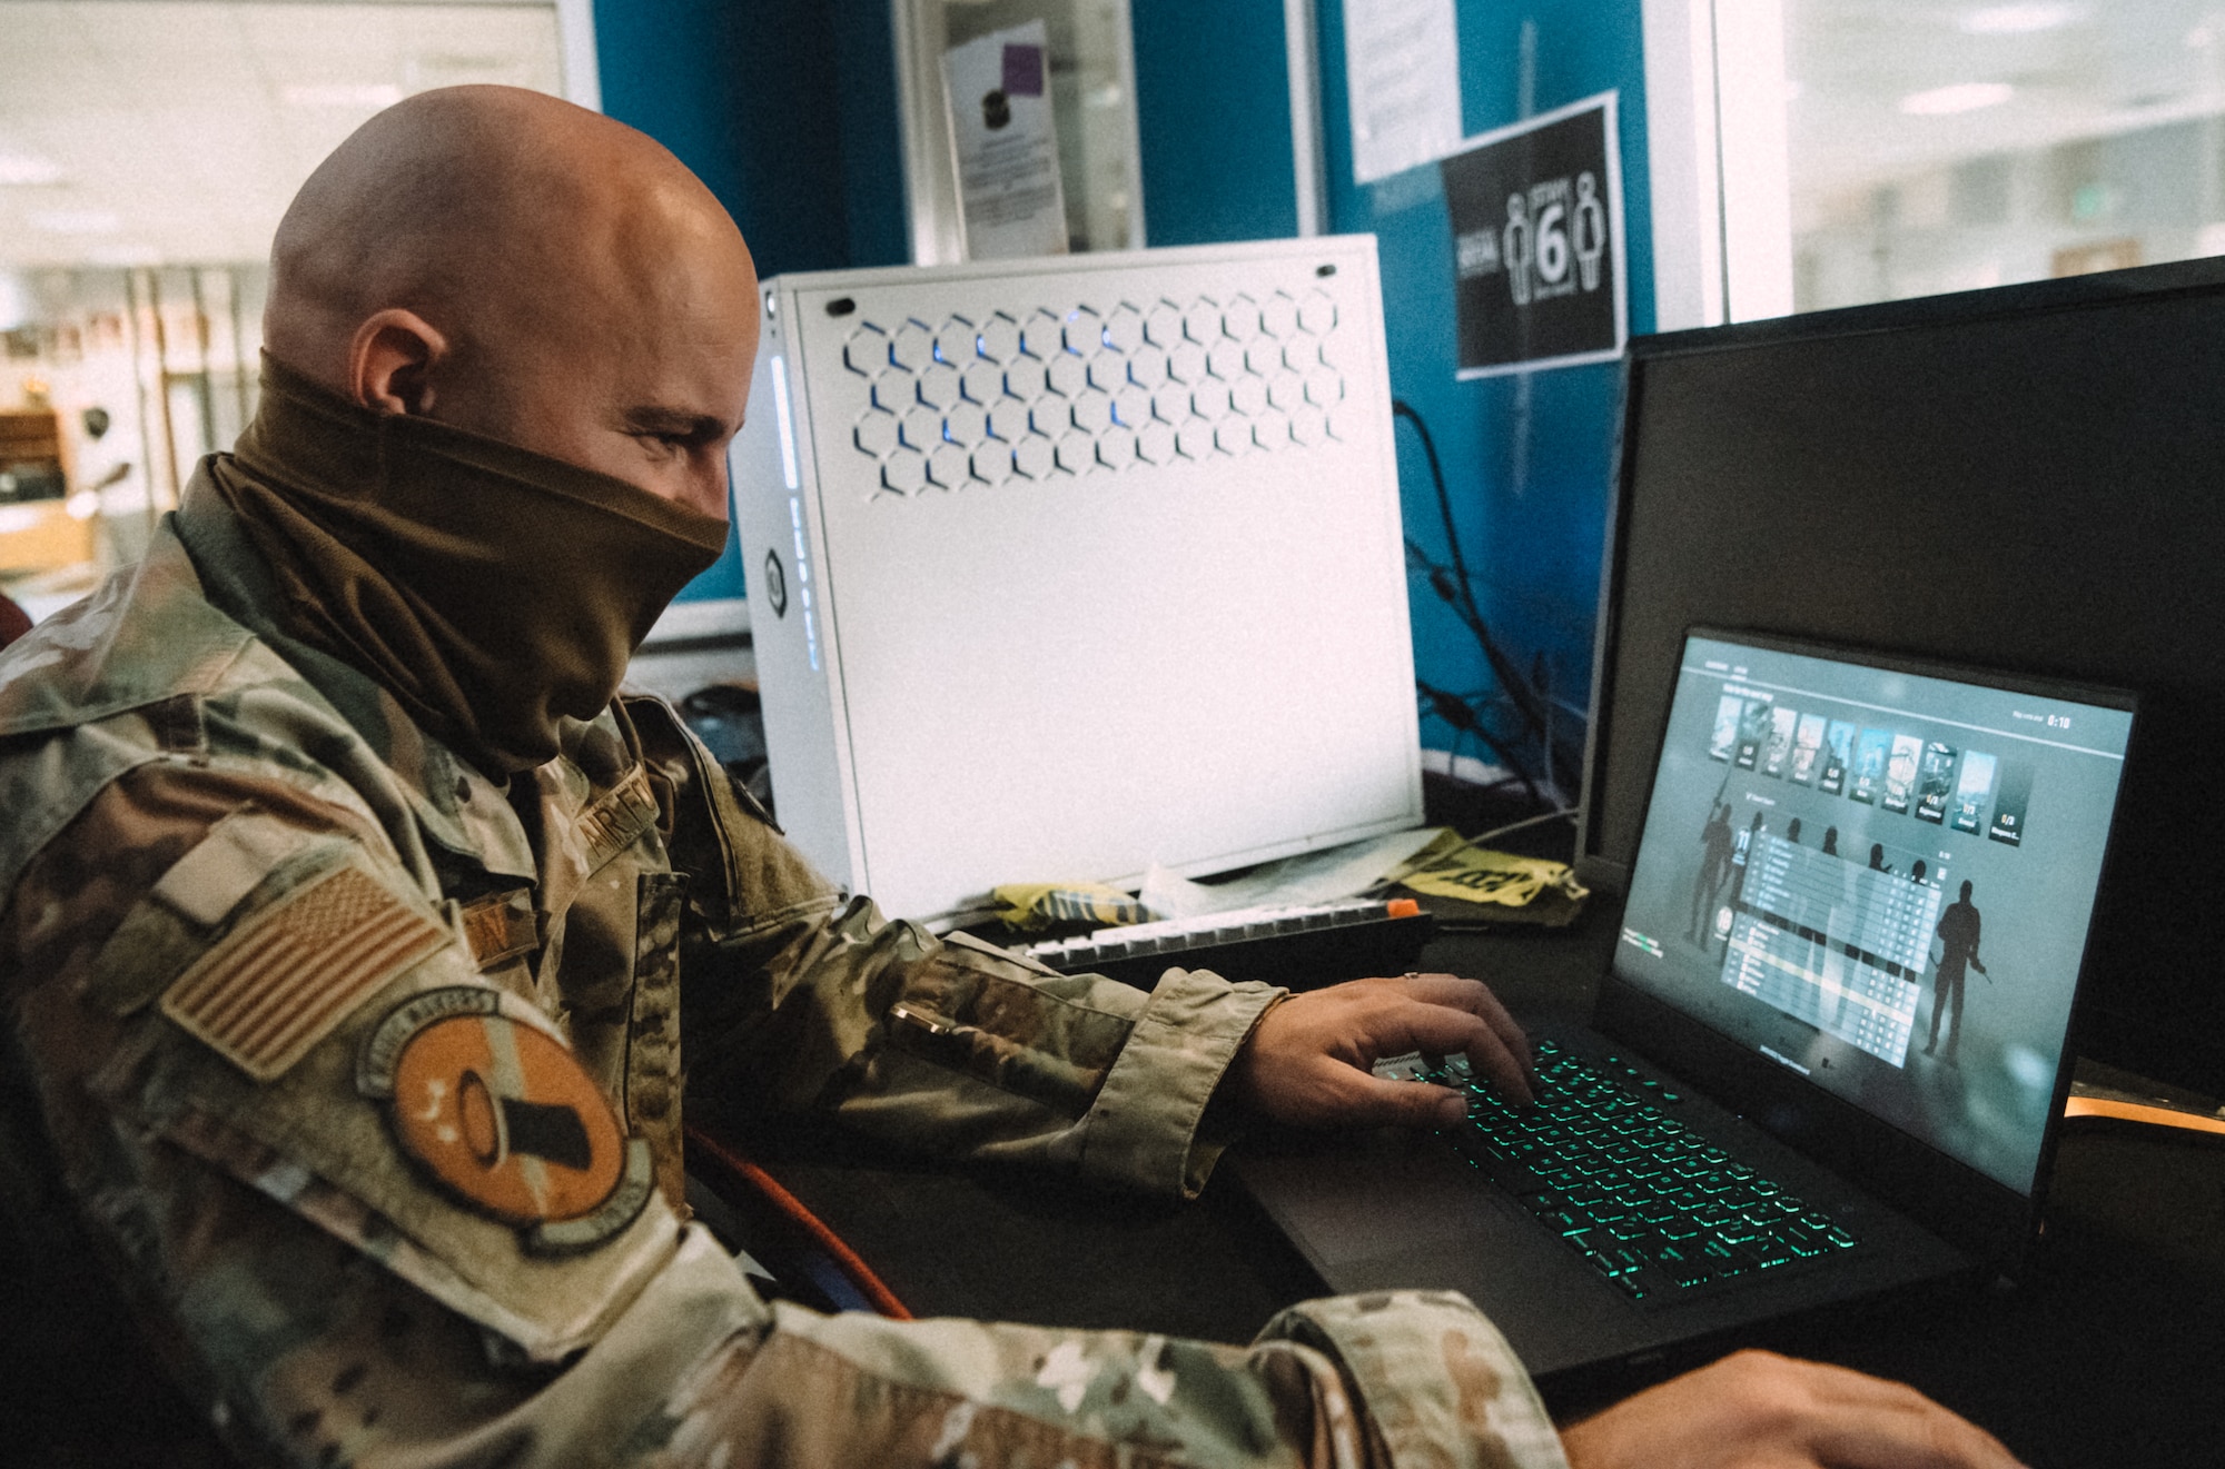
POLYGON ((1451 1086, 1386 1082, 1384 1057, 1466 1053, 1500 1093, 1531 1100, 1522 1026, 1475 979, 1353 979, 1268 1008, 1228 1068, 1230 1095, 1297 1126, 1453 1126, 1468 1100, 1451 1086))

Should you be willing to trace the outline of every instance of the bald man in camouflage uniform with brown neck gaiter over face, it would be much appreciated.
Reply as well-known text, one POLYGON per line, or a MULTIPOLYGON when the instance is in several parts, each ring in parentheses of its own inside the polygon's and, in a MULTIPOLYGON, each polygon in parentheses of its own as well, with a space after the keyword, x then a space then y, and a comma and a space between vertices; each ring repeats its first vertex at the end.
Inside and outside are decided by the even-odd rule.
POLYGON ((11 1402, 89 1360, 145 1418, 154 1362, 298 1465, 2009 1462, 1776 1358, 1562 1440, 1453 1295, 1248 1349, 761 1300, 688 1222, 683 1104, 1181 1195, 1235 1113, 1448 1120, 1368 1064, 1520 1095, 1526 1046, 1444 975, 1141 995, 888 924, 614 697, 723 545, 756 341, 647 138, 412 98, 271 265, 256 421, 0 659, 11 1402))

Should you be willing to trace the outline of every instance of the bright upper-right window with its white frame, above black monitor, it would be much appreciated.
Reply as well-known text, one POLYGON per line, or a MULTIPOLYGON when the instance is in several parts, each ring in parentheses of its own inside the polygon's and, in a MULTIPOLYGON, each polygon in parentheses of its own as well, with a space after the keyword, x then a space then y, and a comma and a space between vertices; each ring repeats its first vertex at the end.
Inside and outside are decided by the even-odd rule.
POLYGON ((2225 0, 1649 0, 1662 327, 2225 254, 2225 0))

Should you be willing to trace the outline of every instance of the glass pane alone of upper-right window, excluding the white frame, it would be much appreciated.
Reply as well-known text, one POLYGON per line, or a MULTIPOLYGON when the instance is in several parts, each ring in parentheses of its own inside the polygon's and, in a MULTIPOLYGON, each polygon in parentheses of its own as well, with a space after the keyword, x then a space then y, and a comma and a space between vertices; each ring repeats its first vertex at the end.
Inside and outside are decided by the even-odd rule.
POLYGON ((2225 252, 2225 7, 1791 0, 1793 307, 2225 252))

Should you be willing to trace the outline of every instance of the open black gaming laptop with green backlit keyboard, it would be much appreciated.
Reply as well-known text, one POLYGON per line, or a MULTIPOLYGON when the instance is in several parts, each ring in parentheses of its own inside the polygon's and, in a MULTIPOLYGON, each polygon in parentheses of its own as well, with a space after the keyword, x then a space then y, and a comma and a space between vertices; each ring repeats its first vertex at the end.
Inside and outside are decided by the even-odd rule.
POLYGON ((1531 1033, 1537 1104, 1453 1059, 1464 1128, 1233 1166, 1333 1289, 1464 1291, 1537 1376, 2014 1271, 2132 714, 1693 630, 1593 1026, 1531 1033))

